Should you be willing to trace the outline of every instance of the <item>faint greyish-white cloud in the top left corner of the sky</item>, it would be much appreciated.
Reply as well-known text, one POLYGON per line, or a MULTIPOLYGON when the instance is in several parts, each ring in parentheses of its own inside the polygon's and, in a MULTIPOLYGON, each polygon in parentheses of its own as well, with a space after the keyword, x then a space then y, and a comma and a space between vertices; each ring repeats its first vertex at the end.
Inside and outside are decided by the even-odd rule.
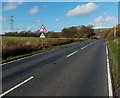
POLYGON ((23 2, 9 2, 9 3, 6 3, 5 6, 3 6, 3 12, 5 11, 9 11, 9 10, 15 10, 18 5, 21 5, 23 2))

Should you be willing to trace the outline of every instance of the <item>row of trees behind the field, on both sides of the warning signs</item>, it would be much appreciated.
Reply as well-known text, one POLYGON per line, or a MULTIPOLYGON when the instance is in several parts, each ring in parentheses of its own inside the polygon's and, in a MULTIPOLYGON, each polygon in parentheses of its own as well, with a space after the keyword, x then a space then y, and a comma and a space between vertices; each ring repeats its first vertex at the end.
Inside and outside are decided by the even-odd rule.
MULTIPOLYGON (((90 38, 94 36, 94 29, 92 25, 88 26, 73 26, 62 29, 61 32, 48 31, 46 33, 47 38, 90 38)), ((6 32, 3 36, 20 36, 20 37, 39 37, 39 30, 32 31, 21 31, 21 32, 6 32)))

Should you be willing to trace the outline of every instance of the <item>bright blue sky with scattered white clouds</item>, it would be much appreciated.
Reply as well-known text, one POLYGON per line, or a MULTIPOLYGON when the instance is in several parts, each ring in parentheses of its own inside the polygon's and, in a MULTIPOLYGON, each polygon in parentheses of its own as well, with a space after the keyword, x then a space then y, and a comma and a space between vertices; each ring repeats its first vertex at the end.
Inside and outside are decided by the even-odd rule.
POLYGON ((44 25, 47 31, 92 24, 94 28, 110 28, 118 23, 118 2, 2 2, 1 33, 10 31, 10 16, 14 31, 36 31, 44 25))

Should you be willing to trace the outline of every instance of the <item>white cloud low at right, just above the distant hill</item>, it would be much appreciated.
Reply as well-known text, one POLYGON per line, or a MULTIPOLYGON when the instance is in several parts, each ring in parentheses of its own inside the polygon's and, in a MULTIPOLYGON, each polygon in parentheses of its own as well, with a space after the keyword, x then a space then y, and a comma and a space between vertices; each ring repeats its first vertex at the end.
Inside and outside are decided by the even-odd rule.
POLYGON ((101 25, 116 24, 116 23, 117 23, 117 19, 114 17, 108 16, 104 18, 103 16, 98 16, 89 24, 92 24, 95 26, 101 26, 101 25))

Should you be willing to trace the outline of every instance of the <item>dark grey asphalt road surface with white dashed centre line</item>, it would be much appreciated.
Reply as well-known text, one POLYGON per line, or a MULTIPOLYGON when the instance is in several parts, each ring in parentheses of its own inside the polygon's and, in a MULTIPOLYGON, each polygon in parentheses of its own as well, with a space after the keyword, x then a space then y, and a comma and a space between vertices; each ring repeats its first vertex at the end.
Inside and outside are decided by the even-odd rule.
POLYGON ((81 42, 2 65, 1 96, 108 96, 105 43, 81 42))

